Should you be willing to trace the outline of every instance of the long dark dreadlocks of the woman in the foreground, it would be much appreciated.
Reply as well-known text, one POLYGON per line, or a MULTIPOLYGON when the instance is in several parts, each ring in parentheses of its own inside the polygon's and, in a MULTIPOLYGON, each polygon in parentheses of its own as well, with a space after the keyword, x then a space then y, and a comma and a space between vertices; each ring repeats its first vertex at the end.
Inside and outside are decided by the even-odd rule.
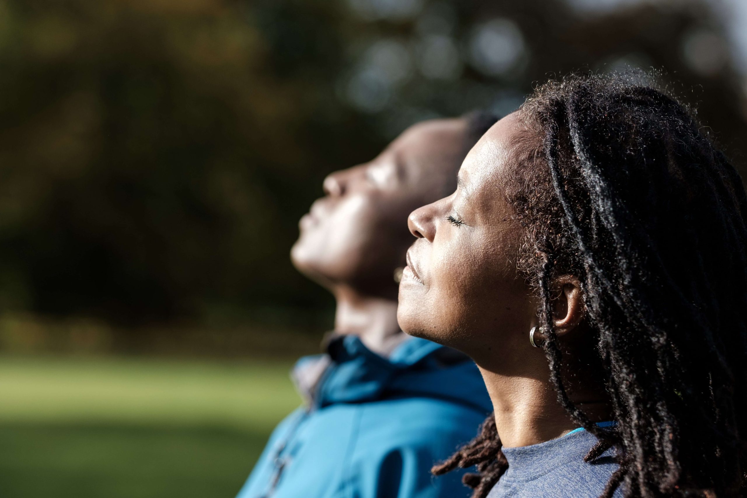
MULTIPOLYGON (((603 497, 746 494, 747 198, 692 113, 642 75, 571 75, 519 109, 535 146, 509 187, 518 268, 541 303, 551 382, 572 420, 616 447, 603 497), (551 320, 555 277, 577 276, 613 429, 568 398, 551 320)), ((506 471, 495 421, 433 472, 486 497, 506 471)))

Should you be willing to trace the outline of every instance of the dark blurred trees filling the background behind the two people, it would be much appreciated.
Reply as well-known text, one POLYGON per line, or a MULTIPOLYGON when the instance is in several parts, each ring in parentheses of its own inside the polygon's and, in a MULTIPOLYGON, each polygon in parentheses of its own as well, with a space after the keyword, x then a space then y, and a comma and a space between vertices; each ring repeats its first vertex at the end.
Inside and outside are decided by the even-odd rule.
POLYGON ((323 329, 288 262, 323 176, 574 69, 663 69, 743 164, 709 5, 0 0, 0 308, 323 329))

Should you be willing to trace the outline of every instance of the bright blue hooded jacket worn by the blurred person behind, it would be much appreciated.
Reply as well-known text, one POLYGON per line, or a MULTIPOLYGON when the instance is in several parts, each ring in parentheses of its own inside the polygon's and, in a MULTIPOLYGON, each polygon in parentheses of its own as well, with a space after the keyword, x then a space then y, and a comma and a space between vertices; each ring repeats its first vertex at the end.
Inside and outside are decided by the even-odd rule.
POLYGON ((462 472, 430 475, 492 410, 465 356, 411 337, 383 358, 342 336, 302 358, 294 378, 308 405, 277 426, 238 498, 471 494, 462 472))

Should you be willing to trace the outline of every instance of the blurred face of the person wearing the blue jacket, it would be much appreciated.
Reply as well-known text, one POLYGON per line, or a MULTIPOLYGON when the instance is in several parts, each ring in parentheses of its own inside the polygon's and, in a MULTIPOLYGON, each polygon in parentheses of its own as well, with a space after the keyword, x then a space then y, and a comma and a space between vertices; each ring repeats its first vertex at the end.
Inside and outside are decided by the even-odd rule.
POLYGON ((465 119, 421 122, 373 161, 329 175, 326 195, 301 219, 291 251, 296 267, 329 288, 393 299, 394 270, 412 240, 407 216, 453 189, 467 131, 465 119))

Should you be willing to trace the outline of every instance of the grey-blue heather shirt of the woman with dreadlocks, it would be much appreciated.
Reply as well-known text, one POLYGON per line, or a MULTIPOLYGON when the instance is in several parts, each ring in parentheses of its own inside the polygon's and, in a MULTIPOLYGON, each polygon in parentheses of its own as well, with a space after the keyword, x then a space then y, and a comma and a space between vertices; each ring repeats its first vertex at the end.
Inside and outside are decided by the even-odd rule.
MULTIPOLYGON (((577 429, 562 438, 517 448, 503 448, 509 468, 488 498, 597 498, 617 470, 614 449, 592 463, 583 461, 597 438, 577 429)), ((615 498, 622 498, 622 489, 615 498)))

